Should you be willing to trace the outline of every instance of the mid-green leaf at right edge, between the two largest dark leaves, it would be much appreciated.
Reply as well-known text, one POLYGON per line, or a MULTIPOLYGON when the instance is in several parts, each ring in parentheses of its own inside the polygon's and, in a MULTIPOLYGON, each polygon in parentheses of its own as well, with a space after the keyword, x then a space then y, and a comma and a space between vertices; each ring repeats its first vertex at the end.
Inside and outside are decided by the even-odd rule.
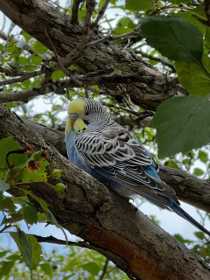
POLYGON ((203 96, 210 94, 210 75, 201 64, 176 62, 176 71, 180 83, 190 94, 203 96))

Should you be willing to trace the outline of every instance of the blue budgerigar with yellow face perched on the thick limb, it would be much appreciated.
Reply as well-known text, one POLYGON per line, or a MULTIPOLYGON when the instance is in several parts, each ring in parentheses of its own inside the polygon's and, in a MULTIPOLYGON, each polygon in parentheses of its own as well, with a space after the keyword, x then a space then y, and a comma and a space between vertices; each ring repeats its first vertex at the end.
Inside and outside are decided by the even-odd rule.
POLYGON ((144 197, 174 211, 210 236, 210 231, 181 208, 175 190, 161 180, 158 164, 99 101, 70 102, 65 128, 68 159, 125 198, 144 197))

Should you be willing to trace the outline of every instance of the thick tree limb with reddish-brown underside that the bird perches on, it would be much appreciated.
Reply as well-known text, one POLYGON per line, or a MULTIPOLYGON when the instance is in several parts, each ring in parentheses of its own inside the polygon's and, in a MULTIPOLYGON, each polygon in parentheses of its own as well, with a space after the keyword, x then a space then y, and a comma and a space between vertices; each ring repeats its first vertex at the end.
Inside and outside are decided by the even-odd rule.
MULTIPOLYGON (((45 149, 49 168, 63 171, 65 195, 45 183, 32 183, 31 190, 48 202, 58 222, 90 242, 130 277, 144 280, 208 280, 210 272, 174 238, 150 222, 125 199, 85 172, 74 167, 43 138, 43 127, 22 121, 0 108, 0 138, 13 135, 22 145, 45 149), (126 217, 122 218, 122 217, 126 217)), ((52 136, 46 131, 46 140, 52 136)), ((58 139, 55 143, 58 144, 58 139)))

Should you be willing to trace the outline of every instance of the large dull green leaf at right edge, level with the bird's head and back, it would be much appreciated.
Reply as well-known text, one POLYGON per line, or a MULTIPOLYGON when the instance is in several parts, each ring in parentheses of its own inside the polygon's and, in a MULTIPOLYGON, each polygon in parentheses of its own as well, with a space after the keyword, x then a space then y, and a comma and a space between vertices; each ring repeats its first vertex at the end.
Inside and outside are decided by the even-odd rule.
POLYGON ((210 142, 210 99, 173 97, 163 102, 154 117, 160 157, 188 152, 210 142))

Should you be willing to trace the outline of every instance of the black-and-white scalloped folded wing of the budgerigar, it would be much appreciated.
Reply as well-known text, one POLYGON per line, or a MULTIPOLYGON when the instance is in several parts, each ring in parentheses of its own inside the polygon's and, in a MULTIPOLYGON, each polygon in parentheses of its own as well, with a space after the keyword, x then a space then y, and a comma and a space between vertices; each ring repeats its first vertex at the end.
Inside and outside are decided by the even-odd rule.
POLYGON ((157 166, 149 152, 133 140, 126 130, 88 131, 77 136, 75 145, 83 159, 96 172, 126 185, 146 185, 161 190, 157 166), (154 169, 157 178, 147 172, 154 169), (156 181, 157 180, 157 181, 156 181))

